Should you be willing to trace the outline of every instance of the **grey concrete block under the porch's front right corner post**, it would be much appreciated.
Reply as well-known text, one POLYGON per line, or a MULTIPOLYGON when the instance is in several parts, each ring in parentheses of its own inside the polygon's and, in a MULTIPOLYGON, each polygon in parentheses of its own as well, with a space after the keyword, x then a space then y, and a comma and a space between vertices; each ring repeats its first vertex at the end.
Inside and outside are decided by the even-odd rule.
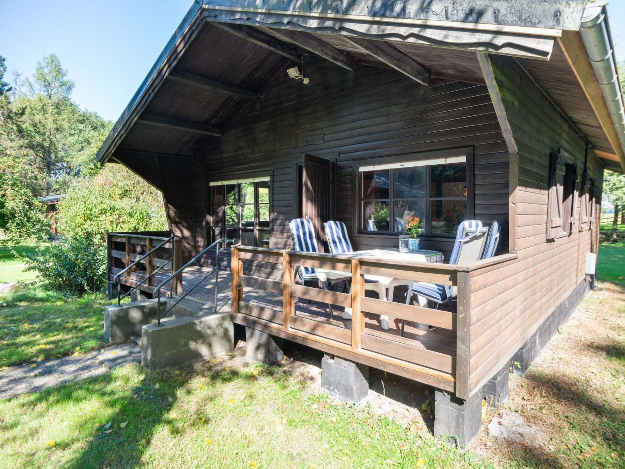
POLYGON ((464 401, 447 391, 434 391, 434 436, 452 435, 468 445, 482 426, 482 395, 464 401))

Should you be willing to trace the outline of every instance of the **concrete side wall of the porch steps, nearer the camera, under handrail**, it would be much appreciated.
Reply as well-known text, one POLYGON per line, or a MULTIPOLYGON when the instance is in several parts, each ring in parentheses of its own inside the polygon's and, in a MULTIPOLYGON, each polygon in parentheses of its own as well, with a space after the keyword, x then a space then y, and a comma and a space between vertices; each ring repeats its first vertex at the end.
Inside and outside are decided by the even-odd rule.
POLYGON ((143 326, 141 365, 179 366, 234 348, 229 313, 186 316, 143 326))

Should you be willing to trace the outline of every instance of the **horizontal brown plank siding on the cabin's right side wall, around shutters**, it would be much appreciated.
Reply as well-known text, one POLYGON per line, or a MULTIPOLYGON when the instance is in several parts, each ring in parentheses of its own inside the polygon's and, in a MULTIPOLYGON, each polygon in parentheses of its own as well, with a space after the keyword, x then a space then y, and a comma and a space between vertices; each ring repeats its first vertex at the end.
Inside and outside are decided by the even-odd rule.
MULTIPOLYGON (((546 240, 549 156, 562 148, 574 158, 578 173, 587 153, 599 213, 602 164, 586 152, 586 142, 549 103, 516 61, 489 56, 494 84, 518 149, 516 250, 504 266, 472 273, 469 386, 476 390, 494 370, 505 366, 519 347, 581 281, 586 253, 597 252, 598 220, 579 231, 579 207, 573 233, 546 240)), ((581 176, 579 177, 581 184, 581 176)))

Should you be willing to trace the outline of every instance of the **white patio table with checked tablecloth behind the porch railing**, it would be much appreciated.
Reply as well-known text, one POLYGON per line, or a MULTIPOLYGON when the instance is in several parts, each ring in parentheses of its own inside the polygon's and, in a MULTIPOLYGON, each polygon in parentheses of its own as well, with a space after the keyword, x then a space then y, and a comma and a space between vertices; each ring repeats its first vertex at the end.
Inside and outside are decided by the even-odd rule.
MULTIPOLYGON (((444 256, 440 251, 432 251, 432 250, 417 250, 412 251, 411 253, 400 253, 397 248, 388 248, 388 249, 372 249, 365 251, 354 251, 350 253, 352 256, 359 258, 375 258, 375 259, 383 259, 390 261, 412 261, 412 262, 432 262, 432 263, 442 263, 444 260, 444 256)), ((332 270, 324 270, 317 269, 317 272, 321 272, 327 276, 327 278, 341 278, 344 276, 349 276, 349 273, 345 272, 337 272, 332 270)), ((402 278, 390 278, 384 276, 377 275, 365 275, 364 280, 365 289, 366 290, 374 290, 379 295, 380 300, 383 301, 392 301, 395 287, 400 285, 410 285, 412 282, 410 280, 404 280, 402 278)), ((350 287, 351 293, 351 287, 350 287)), ((345 308, 343 313, 344 320, 351 320, 351 308, 345 308)), ((388 330, 389 318, 388 316, 381 315, 380 323, 382 329, 388 330)))

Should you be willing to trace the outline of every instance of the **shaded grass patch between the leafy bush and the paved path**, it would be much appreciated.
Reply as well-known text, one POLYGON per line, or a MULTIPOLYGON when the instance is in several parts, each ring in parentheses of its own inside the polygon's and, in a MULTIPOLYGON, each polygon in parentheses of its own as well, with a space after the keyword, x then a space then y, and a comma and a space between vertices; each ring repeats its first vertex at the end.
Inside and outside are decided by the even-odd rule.
POLYGON ((39 286, 0 295, 0 368, 104 344, 103 294, 66 296, 39 286))

